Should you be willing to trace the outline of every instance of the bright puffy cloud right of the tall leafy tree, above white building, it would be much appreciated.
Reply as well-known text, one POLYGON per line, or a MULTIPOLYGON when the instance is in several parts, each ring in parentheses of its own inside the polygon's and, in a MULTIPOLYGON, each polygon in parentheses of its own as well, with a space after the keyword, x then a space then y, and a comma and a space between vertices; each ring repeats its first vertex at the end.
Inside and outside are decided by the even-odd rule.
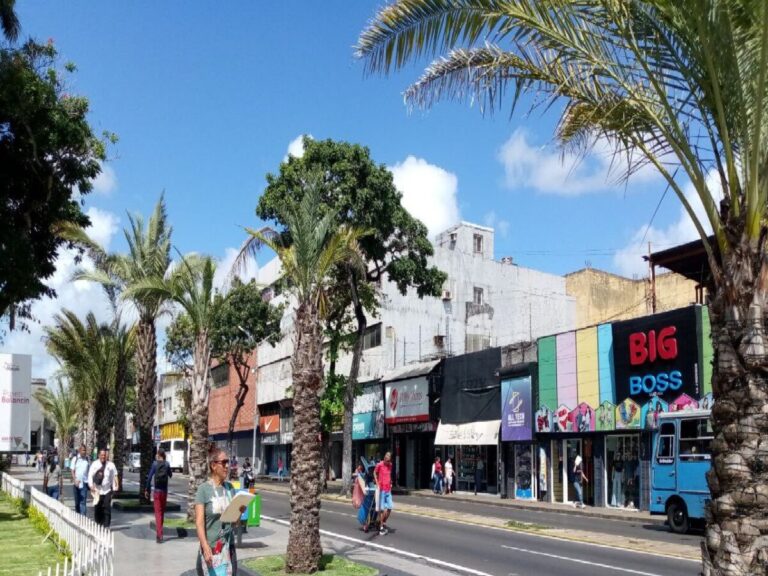
POLYGON ((430 237, 459 222, 455 174, 414 156, 408 156, 389 170, 395 186, 403 194, 403 206, 424 222, 430 237))

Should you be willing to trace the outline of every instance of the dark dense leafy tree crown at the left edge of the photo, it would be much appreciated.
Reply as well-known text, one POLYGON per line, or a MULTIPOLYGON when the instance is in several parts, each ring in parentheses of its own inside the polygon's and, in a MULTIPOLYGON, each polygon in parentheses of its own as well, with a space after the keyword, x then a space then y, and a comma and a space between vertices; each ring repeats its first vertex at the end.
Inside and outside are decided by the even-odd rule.
MULTIPOLYGON (((0 0, 0 25, 18 34, 14 2, 0 0)), ((105 159, 88 100, 65 86, 52 44, 0 47, 0 318, 12 329, 31 301, 55 296, 45 281, 68 231, 89 224, 80 198, 105 159)))

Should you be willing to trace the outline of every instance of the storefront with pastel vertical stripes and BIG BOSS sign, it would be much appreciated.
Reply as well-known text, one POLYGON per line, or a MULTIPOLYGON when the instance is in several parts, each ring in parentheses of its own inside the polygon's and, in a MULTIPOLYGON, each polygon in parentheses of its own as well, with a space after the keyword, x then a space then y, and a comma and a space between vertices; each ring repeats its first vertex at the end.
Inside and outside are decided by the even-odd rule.
POLYGON ((533 421, 546 499, 574 501, 580 455, 585 503, 647 510, 659 414, 711 403, 709 338, 707 309, 692 306, 539 339, 533 421))

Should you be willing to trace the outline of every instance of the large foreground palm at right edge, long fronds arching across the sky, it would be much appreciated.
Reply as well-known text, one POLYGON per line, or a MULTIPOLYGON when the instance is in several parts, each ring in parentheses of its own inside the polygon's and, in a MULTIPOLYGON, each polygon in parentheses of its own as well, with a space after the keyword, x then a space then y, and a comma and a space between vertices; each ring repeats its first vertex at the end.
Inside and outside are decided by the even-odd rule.
POLYGON ((468 97, 494 109, 507 90, 512 108, 522 92, 544 95, 534 102, 546 106, 559 100, 563 146, 584 153, 608 141, 626 159, 625 177, 650 165, 666 180, 711 270, 717 401, 704 572, 762 573, 768 2, 399 0, 362 32, 357 54, 384 73, 437 57, 406 91, 411 105, 468 97))

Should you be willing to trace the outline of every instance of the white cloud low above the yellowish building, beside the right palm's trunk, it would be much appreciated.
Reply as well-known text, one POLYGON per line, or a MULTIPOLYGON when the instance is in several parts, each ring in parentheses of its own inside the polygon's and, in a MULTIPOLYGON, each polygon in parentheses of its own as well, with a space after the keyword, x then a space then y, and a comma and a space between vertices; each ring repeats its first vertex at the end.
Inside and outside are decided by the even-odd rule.
MULTIPOLYGON (((715 194, 715 198, 719 202, 721 198, 720 180, 717 172, 711 172, 707 176, 707 186, 715 194)), ((712 232, 712 228, 709 225, 706 214, 704 212, 704 206, 696 195, 696 191, 689 183, 683 188, 685 197, 693 207, 693 211, 696 214, 697 219, 703 223, 704 228, 708 234, 712 232)), ((679 205, 677 219, 667 226, 666 228, 656 228, 651 226, 643 226, 635 231, 632 235, 630 242, 622 249, 617 250, 613 257, 613 264, 616 271, 623 276, 632 277, 645 277, 648 275, 648 263, 643 260, 643 256, 648 254, 648 242, 651 243, 651 250, 665 250, 672 248, 686 242, 691 242, 699 238, 699 233, 696 231, 696 227, 693 225, 688 213, 685 211, 677 196, 673 191, 667 192, 671 195, 671 198, 665 199, 665 202, 676 202, 679 205)))

